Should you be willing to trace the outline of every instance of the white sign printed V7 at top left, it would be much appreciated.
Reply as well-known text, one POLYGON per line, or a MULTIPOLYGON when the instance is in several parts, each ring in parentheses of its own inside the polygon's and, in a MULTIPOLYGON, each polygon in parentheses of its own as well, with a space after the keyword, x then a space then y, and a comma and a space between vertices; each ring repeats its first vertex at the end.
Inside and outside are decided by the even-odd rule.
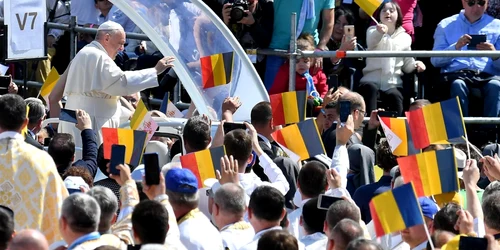
POLYGON ((46 56, 46 0, 5 0, 7 59, 46 56))

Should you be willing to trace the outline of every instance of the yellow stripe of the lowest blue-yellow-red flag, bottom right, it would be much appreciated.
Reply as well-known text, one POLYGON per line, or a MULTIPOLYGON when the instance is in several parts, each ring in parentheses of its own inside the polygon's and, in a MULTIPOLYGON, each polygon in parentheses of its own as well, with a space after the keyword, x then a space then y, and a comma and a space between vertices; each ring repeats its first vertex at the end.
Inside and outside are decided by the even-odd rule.
POLYGON ((406 228, 392 192, 384 192, 374 197, 372 203, 379 218, 391 218, 390 220, 380 220, 384 232, 395 232, 406 228))

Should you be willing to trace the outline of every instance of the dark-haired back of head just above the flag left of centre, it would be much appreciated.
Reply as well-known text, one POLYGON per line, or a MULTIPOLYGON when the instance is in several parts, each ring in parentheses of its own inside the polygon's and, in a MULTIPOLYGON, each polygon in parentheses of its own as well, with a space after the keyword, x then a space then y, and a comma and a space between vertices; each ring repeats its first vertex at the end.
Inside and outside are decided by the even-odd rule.
POLYGON ((202 116, 193 116, 186 122, 182 138, 192 150, 205 150, 210 143, 210 124, 202 116))

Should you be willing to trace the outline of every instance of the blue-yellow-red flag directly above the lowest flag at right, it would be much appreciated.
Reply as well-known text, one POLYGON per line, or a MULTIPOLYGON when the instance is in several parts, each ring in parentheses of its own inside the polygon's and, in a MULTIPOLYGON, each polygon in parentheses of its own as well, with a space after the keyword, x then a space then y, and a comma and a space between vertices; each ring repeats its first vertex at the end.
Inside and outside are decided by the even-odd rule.
POLYGON ((455 151, 444 149, 398 158, 405 183, 413 182, 418 197, 457 192, 455 151))

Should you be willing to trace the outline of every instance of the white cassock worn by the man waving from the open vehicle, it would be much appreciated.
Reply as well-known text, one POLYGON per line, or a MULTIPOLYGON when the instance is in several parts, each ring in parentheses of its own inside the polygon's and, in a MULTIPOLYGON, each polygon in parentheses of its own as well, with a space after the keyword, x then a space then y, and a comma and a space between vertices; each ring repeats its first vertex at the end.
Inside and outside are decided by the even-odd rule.
MULTIPOLYGON (((85 110, 92 119, 97 145, 102 143, 101 128, 117 128, 122 113, 120 96, 131 95, 158 86, 154 68, 122 71, 97 41, 85 46, 75 56, 64 89, 66 109, 85 110)), ((61 122, 60 133, 72 134, 75 146, 81 147, 80 130, 75 124, 61 122)))

